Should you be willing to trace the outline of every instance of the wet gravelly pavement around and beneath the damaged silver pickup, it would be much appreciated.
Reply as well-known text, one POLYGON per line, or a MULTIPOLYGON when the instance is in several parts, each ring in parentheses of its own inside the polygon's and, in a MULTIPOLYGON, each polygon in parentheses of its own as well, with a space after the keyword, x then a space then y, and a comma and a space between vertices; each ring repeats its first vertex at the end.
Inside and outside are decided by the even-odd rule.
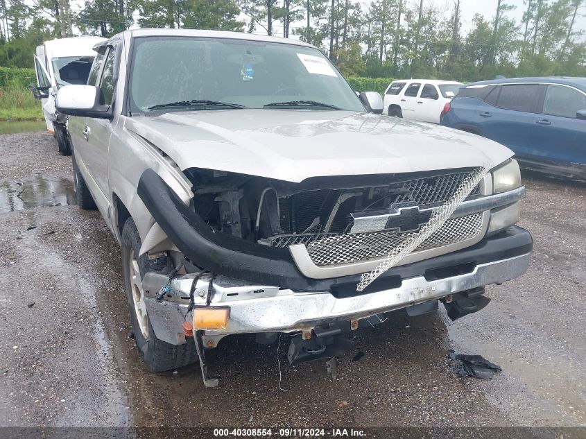
POLYGON ((0 426, 586 426, 585 185, 525 179, 533 264, 490 286, 479 313, 395 313, 354 332, 336 381, 320 361, 289 365, 285 336, 228 337, 209 352, 221 384, 207 389, 198 365, 142 366, 119 246, 97 212, 67 205, 71 159, 54 139, 0 136, 0 154, 0 426), (24 198, 50 189, 15 201, 25 186, 24 198), (459 378, 449 349, 503 372, 459 378))

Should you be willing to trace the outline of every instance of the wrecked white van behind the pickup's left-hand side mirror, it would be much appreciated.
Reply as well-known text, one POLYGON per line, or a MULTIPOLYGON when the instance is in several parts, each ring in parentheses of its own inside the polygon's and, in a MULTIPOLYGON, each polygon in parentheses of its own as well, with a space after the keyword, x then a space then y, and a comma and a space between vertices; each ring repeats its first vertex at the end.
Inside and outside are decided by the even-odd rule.
POLYGON ((31 90, 41 101, 46 129, 55 135, 61 155, 70 155, 71 148, 65 126, 67 117, 55 111, 55 94, 63 85, 87 83, 96 55, 92 48, 104 40, 102 37, 72 37, 37 46, 34 57, 37 85, 31 85, 31 90))

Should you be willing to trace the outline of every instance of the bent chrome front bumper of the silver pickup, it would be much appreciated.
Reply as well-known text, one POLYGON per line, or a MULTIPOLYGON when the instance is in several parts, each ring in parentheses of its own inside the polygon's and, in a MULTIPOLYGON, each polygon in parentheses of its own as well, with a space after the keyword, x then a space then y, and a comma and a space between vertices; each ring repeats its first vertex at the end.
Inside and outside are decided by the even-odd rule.
MULTIPOLYGON (((206 331, 206 336, 255 332, 293 332, 329 322, 359 320, 376 313, 401 309, 427 300, 489 284, 500 284, 526 272, 531 254, 480 264, 471 273, 428 282, 423 276, 404 279, 402 285, 376 293, 336 298, 328 291, 303 293, 274 286, 246 284, 226 277, 214 279, 212 304, 230 307, 230 320, 223 330, 206 331)), ((166 277, 147 273, 143 279, 148 316, 157 338, 172 344, 184 343, 181 324, 186 316, 193 275, 175 277, 172 290, 155 299, 166 277)), ((195 303, 203 305, 208 280, 198 280, 195 303)))

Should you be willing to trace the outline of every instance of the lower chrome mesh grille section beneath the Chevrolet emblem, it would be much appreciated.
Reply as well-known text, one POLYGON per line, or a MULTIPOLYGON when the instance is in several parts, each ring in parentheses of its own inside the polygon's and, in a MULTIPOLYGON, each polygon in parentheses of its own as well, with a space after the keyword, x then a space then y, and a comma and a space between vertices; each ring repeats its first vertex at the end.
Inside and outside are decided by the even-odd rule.
MULTIPOLYGON (((473 214, 447 221, 440 230, 417 247, 415 252, 448 246, 478 236, 483 229, 482 217, 482 214, 473 214)), ((309 257, 317 266, 351 264, 356 261, 384 257, 396 248, 397 244, 413 236, 414 233, 386 230, 362 234, 317 235, 317 239, 305 242, 305 245, 309 257)), ((298 235, 300 239, 309 239, 302 236, 298 235)))

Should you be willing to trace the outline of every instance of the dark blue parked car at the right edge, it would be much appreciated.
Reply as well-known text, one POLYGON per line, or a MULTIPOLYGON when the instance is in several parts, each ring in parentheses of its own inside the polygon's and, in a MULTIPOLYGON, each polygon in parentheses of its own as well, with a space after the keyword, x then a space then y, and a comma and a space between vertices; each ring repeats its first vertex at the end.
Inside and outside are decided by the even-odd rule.
POLYGON ((526 169, 586 179, 586 78, 468 84, 440 123, 508 146, 526 169))

